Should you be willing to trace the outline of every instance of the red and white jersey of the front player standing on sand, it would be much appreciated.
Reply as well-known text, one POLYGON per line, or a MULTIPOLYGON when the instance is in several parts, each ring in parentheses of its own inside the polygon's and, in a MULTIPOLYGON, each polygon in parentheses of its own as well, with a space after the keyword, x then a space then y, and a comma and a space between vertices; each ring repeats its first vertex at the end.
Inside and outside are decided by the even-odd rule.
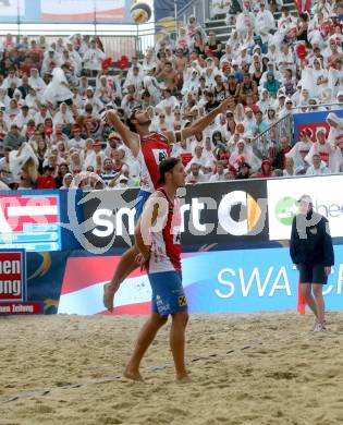
POLYGON ((181 212, 177 199, 172 202, 163 189, 158 190, 168 202, 168 215, 164 226, 154 231, 151 229, 150 259, 148 274, 181 270, 181 212))

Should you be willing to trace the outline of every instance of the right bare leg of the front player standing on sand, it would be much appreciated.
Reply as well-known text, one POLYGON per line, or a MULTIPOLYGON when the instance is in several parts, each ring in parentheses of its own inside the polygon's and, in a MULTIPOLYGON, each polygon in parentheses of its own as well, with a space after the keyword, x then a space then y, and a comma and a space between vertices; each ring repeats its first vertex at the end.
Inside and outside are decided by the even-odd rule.
POLYGON ((173 313, 172 319, 170 348, 173 354, 176 379, 180 382, 186 382, 189 380, 185 365, 185 330, 188 321, 188 312, 173 313))

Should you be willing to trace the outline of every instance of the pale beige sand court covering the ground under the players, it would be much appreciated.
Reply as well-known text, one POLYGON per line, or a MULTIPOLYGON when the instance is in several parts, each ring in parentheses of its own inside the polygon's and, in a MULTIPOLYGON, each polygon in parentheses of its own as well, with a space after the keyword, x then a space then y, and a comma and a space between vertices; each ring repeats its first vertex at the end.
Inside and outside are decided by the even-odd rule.
POLYGON ((343 424, 343 313, 197 315, 192 384, 177 385, 163 328, 145 382, 122 377, 145 316, 4 317, 0 424, 343 424))

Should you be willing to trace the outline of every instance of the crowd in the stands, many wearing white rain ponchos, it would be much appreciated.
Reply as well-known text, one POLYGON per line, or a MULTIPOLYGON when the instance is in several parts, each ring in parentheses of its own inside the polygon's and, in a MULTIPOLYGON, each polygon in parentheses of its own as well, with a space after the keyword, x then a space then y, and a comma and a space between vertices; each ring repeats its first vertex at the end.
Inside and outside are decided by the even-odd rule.
POLYGON ((191 17, 176 39, 161 33, 119 74, 99 37, 48 45, 8 34, 0 42, 0 187, 137 186, 138 163, 106 111, 125 121, 142 107, 151 132, 179 131, 228 96, 226 113, 172 146, 187 183, 343 172, 343 0, 296 5, 295 16, 280 2, 244 1, 228 15, 234 29, 225 44, 191 17), (278 21, 270 8, 281 10, 278 21), (305 127, 298 139, 272 131, 296 112, 328 110, 327 125, 305 127))

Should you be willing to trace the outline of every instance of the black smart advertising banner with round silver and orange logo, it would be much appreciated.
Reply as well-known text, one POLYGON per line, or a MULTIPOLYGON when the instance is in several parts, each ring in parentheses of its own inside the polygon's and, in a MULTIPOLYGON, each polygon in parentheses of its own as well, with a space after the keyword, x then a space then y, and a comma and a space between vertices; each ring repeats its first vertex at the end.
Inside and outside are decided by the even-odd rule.
MULTIPOLYGON (((268 241, 265 180, 187 185, 180 192, 184 245, 268 241), (213 190, 216 189, 216 190, 213 190)), ((135 229, 137 190, 85 194, 85 248, 127 247, 135 229)))

